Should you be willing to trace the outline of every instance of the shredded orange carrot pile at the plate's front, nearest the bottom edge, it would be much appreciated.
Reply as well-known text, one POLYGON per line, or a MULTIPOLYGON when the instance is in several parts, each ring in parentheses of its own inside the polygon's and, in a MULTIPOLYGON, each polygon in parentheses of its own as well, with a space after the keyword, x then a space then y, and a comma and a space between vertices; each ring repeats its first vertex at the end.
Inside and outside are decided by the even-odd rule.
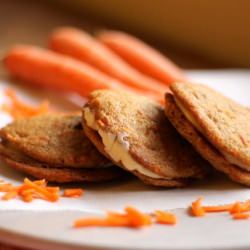
POLYGON ((165 211, 155 211, 151 216, 134 207, 126 207, 124 213, 108 212, 106 217, 86 217, 74 222, 74 227, 131 227, 141 228, 152 223, 175 225, 175 215, 165 211))

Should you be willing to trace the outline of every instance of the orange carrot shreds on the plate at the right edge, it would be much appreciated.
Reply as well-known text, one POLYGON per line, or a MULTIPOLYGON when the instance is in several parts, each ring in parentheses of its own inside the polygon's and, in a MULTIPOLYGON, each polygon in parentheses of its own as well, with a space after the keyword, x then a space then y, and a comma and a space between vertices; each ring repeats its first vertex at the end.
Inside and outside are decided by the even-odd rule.
POLYGON ((192 215, 202 217, 206 213, 228 212, 236 220, 250 218, 250 200, 220 206, 202 206, 202 200, 203 198, 200 197, 192 203, 190 207, 192 215))

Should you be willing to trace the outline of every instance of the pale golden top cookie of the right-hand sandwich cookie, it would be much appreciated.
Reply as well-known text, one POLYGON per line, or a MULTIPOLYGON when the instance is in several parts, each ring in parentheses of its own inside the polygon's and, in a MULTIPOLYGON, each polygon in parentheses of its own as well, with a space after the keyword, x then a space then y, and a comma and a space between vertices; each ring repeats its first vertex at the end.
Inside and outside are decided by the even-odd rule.
POLYGON ((204 85, 174 83, 170 88, 209 142, 229 162, 249 170, 249 108, 204 85))

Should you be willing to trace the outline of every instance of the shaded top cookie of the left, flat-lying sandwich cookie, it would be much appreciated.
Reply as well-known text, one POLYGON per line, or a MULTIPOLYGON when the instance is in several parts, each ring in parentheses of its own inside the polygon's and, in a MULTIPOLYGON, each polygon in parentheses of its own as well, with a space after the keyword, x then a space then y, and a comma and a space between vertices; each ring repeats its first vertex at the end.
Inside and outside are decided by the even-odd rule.
POLYGON ((81 117, 46 114, 14 121, 0 137, 18 151, 58 167, 102 167, 109 163, 83 133, 81 117))

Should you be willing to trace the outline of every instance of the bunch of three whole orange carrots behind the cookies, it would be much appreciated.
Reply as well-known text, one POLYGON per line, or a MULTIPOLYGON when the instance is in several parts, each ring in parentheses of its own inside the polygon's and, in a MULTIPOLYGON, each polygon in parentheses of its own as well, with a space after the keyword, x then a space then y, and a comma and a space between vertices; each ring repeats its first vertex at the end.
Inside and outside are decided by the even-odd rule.
POLYGON ((163 101, 168 85, 185 81, 169 59, 139 39, 116 31, 96 38, 75 28, 59 28, 49 49, 19 45, 5 56, 11 75, 31 84, 88 97, 96 89, 120 89, 163 101))

